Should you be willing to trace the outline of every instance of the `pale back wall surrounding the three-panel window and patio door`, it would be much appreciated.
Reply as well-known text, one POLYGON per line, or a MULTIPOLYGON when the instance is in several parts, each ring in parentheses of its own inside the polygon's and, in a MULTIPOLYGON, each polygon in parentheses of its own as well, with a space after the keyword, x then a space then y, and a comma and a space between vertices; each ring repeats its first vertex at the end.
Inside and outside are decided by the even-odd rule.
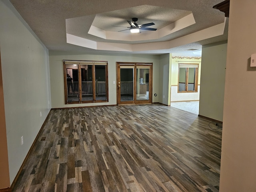
POLYGON ((152 101, 158 102, 158 84, 159 84, 159 56, 157 55, 89 55, 81 52, 50 51, 50 79, 51 79, 51 98, 52 108, 65 108, 76 106, 97 106, 97 105, 115 105, 116 102, 116 62, 149 62, 153 63, 153 96, 152 101), (108 61, 108 88, 109 102, 87 103, 87 104, 65 104, 64 103, 64 76, 62 60, 92 60, 108 61))

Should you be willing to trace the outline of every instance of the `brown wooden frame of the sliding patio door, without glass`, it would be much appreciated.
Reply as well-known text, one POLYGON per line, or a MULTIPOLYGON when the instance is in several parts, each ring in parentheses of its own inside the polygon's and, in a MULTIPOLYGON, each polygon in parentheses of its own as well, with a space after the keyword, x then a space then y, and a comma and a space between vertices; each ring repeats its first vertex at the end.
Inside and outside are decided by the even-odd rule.
POLYGON ((152 89, 153 89, 153 63, 143 63, 143 62, 116 62, 116 98, 117 98, 117 104, 148 104, 148 103, 152 103, 152 89), (134 82, 134 86, 133 86, 133 101, 127 101, 127 102, 121 102, 121 90, 120 87, 118 85, 120 85, 118 82, 120 80, 120 64, 123 64, 123 66, 125 66, 125 64, 127 64, 127 66, 131 66, 134 65, 134 77, 133 77, 133 82, 134 82), (137 89, 137 85, 136 85, 136 74, 137 74, 137 64, 139 65, 144 65, 144 66, 150 66, 149 69, 149 77, 148 77, 148 83, 149 83, 149 100, 136 100, 136 89, 137 89))

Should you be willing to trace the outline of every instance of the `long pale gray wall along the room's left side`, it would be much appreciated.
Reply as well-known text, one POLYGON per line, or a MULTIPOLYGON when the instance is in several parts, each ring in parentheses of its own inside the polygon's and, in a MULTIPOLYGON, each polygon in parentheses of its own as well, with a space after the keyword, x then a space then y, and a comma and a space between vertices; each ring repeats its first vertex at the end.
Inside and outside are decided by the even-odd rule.
POLYGON ((6 0, 0 0, 0 26, 4 108, 12 183, 51 108, 49 59, 46 47, 6 0))

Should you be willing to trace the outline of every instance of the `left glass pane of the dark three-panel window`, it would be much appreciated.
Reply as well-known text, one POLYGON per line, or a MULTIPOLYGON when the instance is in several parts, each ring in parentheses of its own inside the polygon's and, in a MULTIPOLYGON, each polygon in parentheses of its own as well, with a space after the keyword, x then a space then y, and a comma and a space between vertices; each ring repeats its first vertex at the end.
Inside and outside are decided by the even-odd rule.
POLYGON ((78 66, 66 65, 68 103, 79 102, 78 66))

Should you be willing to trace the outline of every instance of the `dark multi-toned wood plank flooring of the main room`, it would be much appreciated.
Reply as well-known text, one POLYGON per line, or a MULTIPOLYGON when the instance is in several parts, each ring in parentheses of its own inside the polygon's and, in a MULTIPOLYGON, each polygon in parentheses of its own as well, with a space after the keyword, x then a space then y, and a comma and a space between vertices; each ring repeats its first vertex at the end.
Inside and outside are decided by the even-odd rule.
POLYGON ((176 108, 51 110, 14 192, 216 192, 222 130, 176 108))

